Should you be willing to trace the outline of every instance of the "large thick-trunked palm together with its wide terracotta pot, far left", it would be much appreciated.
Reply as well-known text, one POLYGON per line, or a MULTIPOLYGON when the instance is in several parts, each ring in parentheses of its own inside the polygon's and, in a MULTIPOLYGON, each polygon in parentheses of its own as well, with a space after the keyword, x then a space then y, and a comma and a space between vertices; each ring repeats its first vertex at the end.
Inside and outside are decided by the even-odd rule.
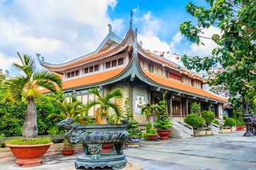
POLYGON ((37 166, 42 163, 42 156, 47 152, 52 142, 49 138, 37 138, 37 109, 35 97, 40 95, 38 87, 44 87, 57 92, 56 87, 62 87, 62 79, 55 73, 35 68, 35 61, 30 56, 18 54, 21 64, 13 63, 21 74, 9 78, 1 86, 1 99, 11 99, 13 102, 23 99, 27 102, 22 138, 6 142, 11 152, 17 158, 20 166, 37 166), (3 94, 4 92, 4 94, 3 94))

